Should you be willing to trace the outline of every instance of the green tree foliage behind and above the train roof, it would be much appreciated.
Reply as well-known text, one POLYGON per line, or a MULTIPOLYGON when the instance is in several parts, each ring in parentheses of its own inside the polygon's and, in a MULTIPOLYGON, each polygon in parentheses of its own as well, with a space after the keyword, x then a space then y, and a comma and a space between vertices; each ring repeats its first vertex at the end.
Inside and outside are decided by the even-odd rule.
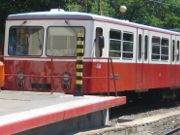
POLYGON ((126 19, 168 29, 180 29, 180 0, 0 0, 1 25, 8 14, 63 8, 126 19), (99 6, 98 6, 99 5, 99 6), (127 12, 119 12, 121 5, 127 12))

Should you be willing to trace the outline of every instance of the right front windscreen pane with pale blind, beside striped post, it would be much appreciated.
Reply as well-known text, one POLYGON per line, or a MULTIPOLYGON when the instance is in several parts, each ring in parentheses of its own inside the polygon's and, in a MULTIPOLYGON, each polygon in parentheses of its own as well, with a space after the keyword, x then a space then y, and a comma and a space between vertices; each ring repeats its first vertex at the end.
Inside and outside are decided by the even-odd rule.
POLYGON ((76 56, 78 33, 84 33, 84 27, 49 27, 46 54, 48 56, 76 56))

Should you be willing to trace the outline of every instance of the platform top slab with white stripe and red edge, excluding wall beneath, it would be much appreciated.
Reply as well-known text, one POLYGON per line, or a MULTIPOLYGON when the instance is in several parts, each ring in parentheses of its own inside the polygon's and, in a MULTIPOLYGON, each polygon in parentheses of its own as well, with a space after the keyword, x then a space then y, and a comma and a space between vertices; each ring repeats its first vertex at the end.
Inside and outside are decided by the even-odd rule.
POLYGON ((74 97, 3 90, 0 92, 0 134, 14 134, 125 103, 125 97, 74 97))

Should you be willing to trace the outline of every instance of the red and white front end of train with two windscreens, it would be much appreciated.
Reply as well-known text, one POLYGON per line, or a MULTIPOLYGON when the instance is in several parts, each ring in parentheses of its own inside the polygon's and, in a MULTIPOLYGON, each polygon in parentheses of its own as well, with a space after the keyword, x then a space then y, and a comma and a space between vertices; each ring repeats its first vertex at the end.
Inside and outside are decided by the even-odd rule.
POLYGON ((83 14, 53 10, 9 15, 4 89, 73 92, 81 82, 77 59, 88 55, 85 46, 92 44, 90 29, 92 21, 83 14))

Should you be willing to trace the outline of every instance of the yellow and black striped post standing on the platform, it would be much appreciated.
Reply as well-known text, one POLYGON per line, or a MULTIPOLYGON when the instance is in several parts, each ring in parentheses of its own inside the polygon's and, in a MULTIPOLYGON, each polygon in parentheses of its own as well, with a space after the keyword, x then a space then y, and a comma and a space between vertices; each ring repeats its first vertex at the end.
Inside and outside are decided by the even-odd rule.
POLYGON ((77 34, 77 47, 76 47, 76 93, 75 96, 82 96, 83 86, 83 58, 84 58, 84 33, 77 34))

